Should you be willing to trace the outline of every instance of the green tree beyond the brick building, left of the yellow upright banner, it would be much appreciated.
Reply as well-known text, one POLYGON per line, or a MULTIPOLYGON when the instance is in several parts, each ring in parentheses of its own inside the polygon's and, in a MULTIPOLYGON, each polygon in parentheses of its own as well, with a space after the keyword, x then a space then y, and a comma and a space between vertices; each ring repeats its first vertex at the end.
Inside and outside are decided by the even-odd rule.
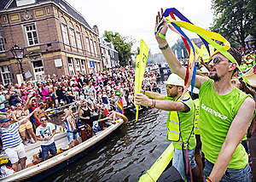
POLYGON ((128 37, 122 37, 118 32, 105 31, 103 38, 108 43, 113 43, 114 48, 119 52, 119 64, 129 65, 131 55, 134 53, 131 51, 131 47, 134 44, 134 40, 128 37))

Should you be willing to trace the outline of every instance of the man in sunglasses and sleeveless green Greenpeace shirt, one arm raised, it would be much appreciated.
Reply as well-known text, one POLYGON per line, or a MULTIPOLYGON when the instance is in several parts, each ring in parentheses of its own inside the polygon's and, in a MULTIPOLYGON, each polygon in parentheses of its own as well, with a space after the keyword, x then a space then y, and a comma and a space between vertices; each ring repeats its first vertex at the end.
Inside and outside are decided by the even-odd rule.
MULTIPOLYGON (((159 22, 160 12, 156 16, 156 26, 159 22)), ((160 34, 166 35, 166 31, 165 21, 160 34)), ((172 53, 166 39, 157 34, 156 40, 172 72, 184 79, 186 69, 172 53)), ((230 48, 228 52, 241 63, 241 54, 236 49, 230 48)), ((252 180, 241 139, 247 134, 255 102, 230 82, 237 63, 215 52, 209 63, 211 79, 195 76, 195 87, 200 88, 199 129, 206 157, 204 176, 207 181, 252 180)))

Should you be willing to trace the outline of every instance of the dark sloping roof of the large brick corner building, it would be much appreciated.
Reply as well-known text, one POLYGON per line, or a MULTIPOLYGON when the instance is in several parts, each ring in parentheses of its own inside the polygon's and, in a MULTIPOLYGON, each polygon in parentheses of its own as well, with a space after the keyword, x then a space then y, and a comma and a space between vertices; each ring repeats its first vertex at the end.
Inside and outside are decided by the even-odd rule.
MULTIPOLYGON (((67 3, 65 0, 36 0, 36 3, 42 3, 42 2, 54 2, 56 4, 59 4, 61 8, 65 11, 67 11, 68 14, 71 14, 74 19, 79 20, 81 23, 84 24, 84 26, 87 26, 90 28, 87 21, 84 19, 82 14, 79 14, 77 10, 75 10, 69 3, 67 3)), ((5 7, 8 6, 9 8, 16 8, 16 1, 15 0, 0 0, 0 10, 5 9, 5 7)), ((91 29, 91 28, 90 28, 91 29)))

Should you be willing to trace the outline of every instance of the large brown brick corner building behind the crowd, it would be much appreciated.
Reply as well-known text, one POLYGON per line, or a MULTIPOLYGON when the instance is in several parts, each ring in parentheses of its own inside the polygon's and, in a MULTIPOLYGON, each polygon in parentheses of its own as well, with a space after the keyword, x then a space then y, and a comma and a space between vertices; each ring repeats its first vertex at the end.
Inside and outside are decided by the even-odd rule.
POLYGON ((65 0, 0 1, 0 82, 21 74, 10 48, 25 48, 22 66, 29 79, 88 74, 102 70, 99 33, 65 0), (27 74, 28 73, 28 74, 27 74))

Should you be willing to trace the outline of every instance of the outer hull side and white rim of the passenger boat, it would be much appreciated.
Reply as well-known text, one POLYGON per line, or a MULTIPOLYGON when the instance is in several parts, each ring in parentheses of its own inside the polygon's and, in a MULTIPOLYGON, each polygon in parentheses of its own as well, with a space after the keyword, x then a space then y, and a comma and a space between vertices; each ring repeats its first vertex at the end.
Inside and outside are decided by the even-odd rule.
POLYGON ((72 149, 62 152, 47 161, 40 162, 32 167, 23 169, 15 174, 9 175, 1 181, 40 181, 45 179, 50 174, 55 173, 61 168, 67 167, 70 163, 77 161, 80 157, 85 156, 88 151, 102 143, 110 134, 123 124, 124 120, 120 119, 116 124, 102 130, 90 139, 83 143, 74 146, 72 149))

